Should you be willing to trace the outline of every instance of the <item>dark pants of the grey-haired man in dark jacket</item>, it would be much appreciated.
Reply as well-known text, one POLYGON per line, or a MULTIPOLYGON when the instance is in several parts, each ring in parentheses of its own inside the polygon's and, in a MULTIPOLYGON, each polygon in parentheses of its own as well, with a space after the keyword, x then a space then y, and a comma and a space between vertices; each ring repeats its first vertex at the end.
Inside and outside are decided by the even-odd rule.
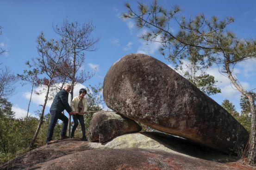
POLYGON ((48 126, 46 142, 50 141, 52 139, 53 130, 54 130, 54 127, 55 127, 58 119, 61 119, 63 121, 62 129, 61 129, 61 136, 66 136, 68 123, 69 123, 68 117, 63 115, 62 112, 60 112, 60 111, 50 111, 50 124, 48 126))

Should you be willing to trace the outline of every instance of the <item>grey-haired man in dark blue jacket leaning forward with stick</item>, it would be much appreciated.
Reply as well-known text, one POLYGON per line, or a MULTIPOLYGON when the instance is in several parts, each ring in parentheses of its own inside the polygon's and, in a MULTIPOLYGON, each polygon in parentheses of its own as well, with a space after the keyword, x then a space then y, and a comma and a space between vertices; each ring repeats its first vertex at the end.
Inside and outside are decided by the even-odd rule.
POLYGON ((75 111, 72 111, 68 103, 70 90, 71 86, 69 84, 66 84, 64 88, 56 94, 50 106, 50 124, 47 131, 46 144, 48 144, 52 140, 53 130, 58 119, 61 119, 63 121, 61 139, 68 138, 68 136, 66 136, 66 132, 69 119, 64 114, 62 114, 62 111, 66 110, 70 115, 76 114, 75 111))

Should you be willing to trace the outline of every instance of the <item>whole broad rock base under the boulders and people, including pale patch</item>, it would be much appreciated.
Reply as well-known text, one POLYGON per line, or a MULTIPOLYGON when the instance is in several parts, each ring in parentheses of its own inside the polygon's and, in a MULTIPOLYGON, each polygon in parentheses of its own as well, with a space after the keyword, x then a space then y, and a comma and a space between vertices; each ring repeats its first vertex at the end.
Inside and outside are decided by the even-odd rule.
POLYGON ((104 144, 60 140, 26 152, 0 170, 254 170, 230 162, 234 160, 172 135, 131 133, 104 144), (223 161, 229 163, 218 163, 223 161))

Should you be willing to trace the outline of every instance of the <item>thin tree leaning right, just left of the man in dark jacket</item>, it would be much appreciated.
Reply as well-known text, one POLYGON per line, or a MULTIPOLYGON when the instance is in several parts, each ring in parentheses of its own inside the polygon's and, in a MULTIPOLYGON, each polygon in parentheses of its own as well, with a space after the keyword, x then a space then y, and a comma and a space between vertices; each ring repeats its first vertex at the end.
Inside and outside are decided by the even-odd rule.
POLYGON ((30 147, 33 147, 41 125, 44 120, 44 110, 47 104, 47 100, 50 93, 50 88, 53 84, 57 83, 59 75, 56 73, 59 65, 64 61, 67 56, 65 41, 55 41, 51 39, 46 41, 44 38, 44 33, 41 33, 37 38, 37 52, 39 57, 32 59, 32 64, 28 63, 31 66, 37 67, 43 74, 44 78, 38 81, 38 84, 46 87, 46 95, 44 99, 44 105, 40 114, 39 123, 34 137, 31 140, 30 147))

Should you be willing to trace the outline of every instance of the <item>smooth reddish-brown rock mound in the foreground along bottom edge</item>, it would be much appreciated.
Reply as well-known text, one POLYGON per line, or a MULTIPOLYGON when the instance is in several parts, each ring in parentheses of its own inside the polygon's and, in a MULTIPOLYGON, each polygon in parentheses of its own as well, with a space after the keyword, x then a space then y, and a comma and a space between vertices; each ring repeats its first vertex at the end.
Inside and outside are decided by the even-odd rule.
POLYGON ((252 170, 156 149, 99 149, 69 154, 26 170, 252 170))

